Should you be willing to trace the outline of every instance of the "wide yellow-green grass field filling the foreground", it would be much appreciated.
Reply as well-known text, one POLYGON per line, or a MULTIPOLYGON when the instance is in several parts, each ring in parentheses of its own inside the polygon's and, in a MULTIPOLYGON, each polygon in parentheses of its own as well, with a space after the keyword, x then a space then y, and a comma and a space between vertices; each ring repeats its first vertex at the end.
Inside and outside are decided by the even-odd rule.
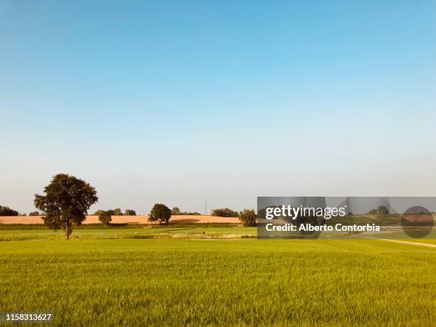
MULTIPOLYGON (((6 232, 14 231, 1 237, 6 232)), ((85 232, 95 238, 0 242, 0 311, 51 312, 55 325, 76 326, 435 321, 436 249, 425 246, 370 239, 99 239, 104 229, 73 235, 85 232)))

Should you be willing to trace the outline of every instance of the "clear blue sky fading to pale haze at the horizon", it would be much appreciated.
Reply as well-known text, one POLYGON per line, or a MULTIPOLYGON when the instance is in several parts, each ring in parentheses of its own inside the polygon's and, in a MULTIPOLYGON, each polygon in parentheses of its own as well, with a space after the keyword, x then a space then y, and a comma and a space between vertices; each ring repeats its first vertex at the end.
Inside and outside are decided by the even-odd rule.
POLYGON ((0 1, 0 205, 436 195, 435 1, 0 1))

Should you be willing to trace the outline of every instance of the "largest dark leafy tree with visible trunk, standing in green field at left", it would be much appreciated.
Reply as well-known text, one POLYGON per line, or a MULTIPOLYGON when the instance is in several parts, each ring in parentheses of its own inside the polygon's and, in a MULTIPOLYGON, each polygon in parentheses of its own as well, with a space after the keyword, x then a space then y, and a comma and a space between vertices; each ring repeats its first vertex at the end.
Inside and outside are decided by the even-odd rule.
POLYGON ((54 176, 44 193, 35 194, 35 207, 44 212, 44 224, 55 230, 63 228, 66 239, 70 238, 73 225, 80 226, 89 207, 98 201, 94 187, 67 174, 54 176))

